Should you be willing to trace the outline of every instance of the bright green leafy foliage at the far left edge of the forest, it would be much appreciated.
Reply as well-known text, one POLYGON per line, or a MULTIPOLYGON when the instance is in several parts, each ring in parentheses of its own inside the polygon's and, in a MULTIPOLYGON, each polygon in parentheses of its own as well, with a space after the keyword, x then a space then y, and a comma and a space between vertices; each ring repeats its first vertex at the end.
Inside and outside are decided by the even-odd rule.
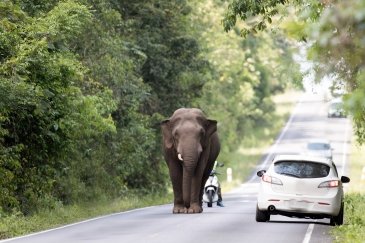
POLYGON ((67 48, 90 23, 87 8, 62 2, 38 18, 19 14, 10 2, 1 9, 7 12, 2 29, 15 31, 3 36, 12 45, 5 46, 0 68, 1 164, 6 175, 1 190, 8 192, 1 195, 0 206, 28 214, 42 207, 45 198, 60 198, 55 187, 67 161, 74 159, 68 152, 77 142, 75 134, 84 140, 115 131, 111 109, 97 105, 112 107, 114 102, 107 90, 83 95, 86 69, 67 48), (14 15, 22 19, 13 21, 14 15))

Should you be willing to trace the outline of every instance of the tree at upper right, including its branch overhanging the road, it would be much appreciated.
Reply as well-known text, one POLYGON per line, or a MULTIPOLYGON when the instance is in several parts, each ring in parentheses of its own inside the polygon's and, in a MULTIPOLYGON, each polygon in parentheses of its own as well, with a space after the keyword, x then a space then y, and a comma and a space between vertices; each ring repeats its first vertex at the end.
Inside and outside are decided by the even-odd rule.
POLYGON ((313 43, 309 57, 316 63, 319 75, 329 75, 334 85, 345 81, 347 109, 351 112, 356 135, 365 142, 364 117, 364 21, 363 1, 233 1, 223 20, 226 31, 231 30, 237 17, 245 24, 241 33, 246 36, 264 30, 274 16, 284 16, 285 8, 294 6, 297 18, 291 33, 299 40, 313 43), (283 11, 284 9, 284 11, 283 11), (280 12, 281 10, 281 12, 280 12), (251 21, 252 20, 252 21, 251 21), (294 28, 293 28, 294 26, 294 28), (299 33, 299 34, 298 34, 299 33), (338 82, 339 81, 339 82, 338 82))

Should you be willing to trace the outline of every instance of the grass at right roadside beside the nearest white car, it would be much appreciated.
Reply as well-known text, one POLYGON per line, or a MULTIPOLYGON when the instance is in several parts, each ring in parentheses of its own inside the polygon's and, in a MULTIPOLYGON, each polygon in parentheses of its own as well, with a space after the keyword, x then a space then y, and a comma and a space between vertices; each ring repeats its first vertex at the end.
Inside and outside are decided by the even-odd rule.
POLYGON ((364 158, 365 145, 359 146, 354 141, 350 157, 351 181, 345 195, 345 222, 332 229, 335 242, 365 242, 365 180, 361 180, 365 167, 364 158))

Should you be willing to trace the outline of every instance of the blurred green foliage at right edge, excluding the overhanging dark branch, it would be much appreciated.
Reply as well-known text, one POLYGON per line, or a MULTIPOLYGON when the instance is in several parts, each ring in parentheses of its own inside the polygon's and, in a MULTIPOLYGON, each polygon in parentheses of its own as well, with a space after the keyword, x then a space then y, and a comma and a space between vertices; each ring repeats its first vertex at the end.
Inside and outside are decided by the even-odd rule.
POLYGON ((346 1, 326 8, 317 22, 307 31, 315 45, 311 58, 318 63, 320 74, 332 74, 335 82, 345 81, 347 109, 353 116, 355 133, 360 143, 365 142, 365 3, 346 1))

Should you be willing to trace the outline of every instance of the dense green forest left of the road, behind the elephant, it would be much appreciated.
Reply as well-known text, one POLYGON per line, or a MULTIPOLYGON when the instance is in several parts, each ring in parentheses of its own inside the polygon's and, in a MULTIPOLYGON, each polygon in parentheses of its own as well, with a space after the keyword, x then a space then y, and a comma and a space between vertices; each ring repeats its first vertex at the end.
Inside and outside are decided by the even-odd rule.
POLYGON ((224 32, 223 0, 0 2, 0 213, 166 191, 159 122, 199 107, 221 158, 300 85, 280 31, 224 32))

